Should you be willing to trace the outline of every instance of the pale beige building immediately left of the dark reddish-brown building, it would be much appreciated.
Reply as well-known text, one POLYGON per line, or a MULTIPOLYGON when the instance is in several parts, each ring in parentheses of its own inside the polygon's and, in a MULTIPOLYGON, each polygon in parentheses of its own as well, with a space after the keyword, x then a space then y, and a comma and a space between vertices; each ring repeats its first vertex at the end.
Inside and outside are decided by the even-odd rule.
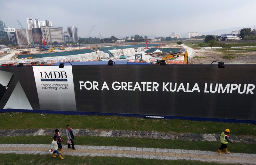
POLYGON ((18 45, 27 46, 33 43, 32 29, 17 29, 15 32, 18 45))

